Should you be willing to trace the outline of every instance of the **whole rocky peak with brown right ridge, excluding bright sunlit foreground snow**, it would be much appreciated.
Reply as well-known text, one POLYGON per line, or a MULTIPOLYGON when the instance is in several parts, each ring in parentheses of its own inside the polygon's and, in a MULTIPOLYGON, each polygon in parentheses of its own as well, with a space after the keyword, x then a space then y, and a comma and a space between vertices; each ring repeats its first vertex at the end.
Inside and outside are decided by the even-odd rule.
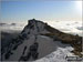
MULTIPOLYGON (((56 51, 59 48, 71 45, 75 48, 74 52, 81 55, 81 42, 82 38, 79 35, 63 33, 42 21, 32 19, 15 39, 1 49, 1 56, 2 61, 33 61, 56 51)), ((65 50, 68 51, 68 49, 65 50)))

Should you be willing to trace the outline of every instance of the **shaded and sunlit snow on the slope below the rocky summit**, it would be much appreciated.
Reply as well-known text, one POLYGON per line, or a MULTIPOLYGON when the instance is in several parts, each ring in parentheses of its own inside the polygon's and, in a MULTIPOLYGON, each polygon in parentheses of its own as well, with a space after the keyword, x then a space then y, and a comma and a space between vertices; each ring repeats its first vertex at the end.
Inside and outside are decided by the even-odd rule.
MULTIPOLYGON (((10 59, 7 61, 18 61, 22 55, 23 49, 27 45, 27 50, 24 55, 27 55, 29 51, 29 46, 33 44, 34 35, 29 40, 24 40, 22 44, 18 46, 15 51, 12 51, 13 54, 10 55, 10 59)), ((73 55, 70 51, 73 50, 69 44, 62 44, 60 41, 53 41, 49 37, 38 35, 37 42, 39 43, 39 60, 34 62, 55 62, 55 61, 65 61, 65 56, 73 55), (62 46, 63 45, 63 46, 62 46), (60 60, 61 59, 61 60, 60 60)), ((32 59, 30 59, 32 61, 32 59)))

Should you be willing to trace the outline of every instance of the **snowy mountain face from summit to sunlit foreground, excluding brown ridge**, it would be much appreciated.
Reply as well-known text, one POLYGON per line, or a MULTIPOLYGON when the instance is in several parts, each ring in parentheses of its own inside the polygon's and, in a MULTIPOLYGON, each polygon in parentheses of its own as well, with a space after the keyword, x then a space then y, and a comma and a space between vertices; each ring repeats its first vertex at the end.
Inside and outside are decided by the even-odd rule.
POLYGON ((41 21, 34 20, 34 19, 29 20, 29 24, 25 25, 23 31, 20 33, 23 40, 18 38, 20 40, 19 42, 13 41, 15 43, 11 43, 10 46, 6 49, 7 51, 2 54, 2 60, 3 61, 19 61, 22 55, 24 46, 27 46, 27 50, 23 56, 28 54, 30 45, 32 45, 34 41, 37 41, 39 43, 38 60, 34 61, 32 58, 30 58, 29 61, 66 62, 65 56, 73 55, 73 53, 71 53, 73 48, 70 44, 63 44, 61 43, 61 41, 53 41, 52 38, 41 35, 41 33, 49 33, 49 31, 45 30, 44 25, 45 23, 41 21), (13 50, 13 48, 17 45, 18 48, 13 50), (11 51, 13 54, 11 54, 9 59, 4 59, 4 54, 8 51, 11 51))

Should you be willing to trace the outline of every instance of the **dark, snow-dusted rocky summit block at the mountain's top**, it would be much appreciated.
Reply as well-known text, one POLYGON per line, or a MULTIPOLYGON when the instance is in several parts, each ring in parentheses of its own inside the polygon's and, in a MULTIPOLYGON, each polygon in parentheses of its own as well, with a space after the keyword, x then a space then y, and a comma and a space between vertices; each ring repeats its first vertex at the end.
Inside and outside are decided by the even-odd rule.
POLYGON ((22 33, 40 34, 45 31, 44 30, 45 23, 43 23, 42 21, 38 21, 35 19, 32 19, 32 20, 29 20, 28 23, 29 24, 24 27, 22 33))

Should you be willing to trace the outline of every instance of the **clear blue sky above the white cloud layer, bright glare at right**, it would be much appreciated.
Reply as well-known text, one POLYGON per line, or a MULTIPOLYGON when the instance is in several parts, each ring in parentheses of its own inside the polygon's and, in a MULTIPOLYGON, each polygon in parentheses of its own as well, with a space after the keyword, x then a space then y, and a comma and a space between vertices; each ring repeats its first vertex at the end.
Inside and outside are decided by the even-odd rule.
POLYGON ((82 21, 80 1, 1 1, 0 21, 82 21))

